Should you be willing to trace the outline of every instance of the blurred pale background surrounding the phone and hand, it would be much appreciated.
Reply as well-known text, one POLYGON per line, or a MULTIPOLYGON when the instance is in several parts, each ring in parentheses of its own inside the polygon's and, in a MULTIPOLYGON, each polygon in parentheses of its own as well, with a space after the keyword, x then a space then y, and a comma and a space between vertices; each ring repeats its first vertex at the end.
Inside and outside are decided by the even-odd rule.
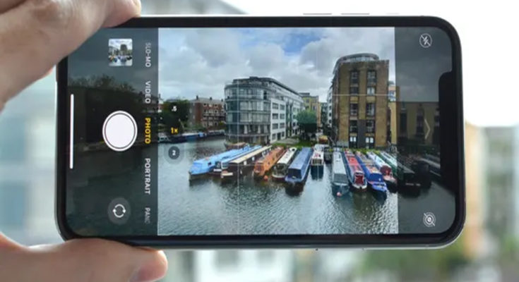
MULTIPOLYGON (((501 1, 143 0, 143 13, 300 15, 400 13, 451 22, 463 45, 467 221, 441 250, 167 251, 164 281, 519 281, 519 26, 501 1), (515 91, 514 91, 515 90, 515 91)), ((511 4, 508 4, 511 5, 511 4)), ((0 231, 20 243, 59 243, 54 223, 54 75, 0 114, 0 231)))

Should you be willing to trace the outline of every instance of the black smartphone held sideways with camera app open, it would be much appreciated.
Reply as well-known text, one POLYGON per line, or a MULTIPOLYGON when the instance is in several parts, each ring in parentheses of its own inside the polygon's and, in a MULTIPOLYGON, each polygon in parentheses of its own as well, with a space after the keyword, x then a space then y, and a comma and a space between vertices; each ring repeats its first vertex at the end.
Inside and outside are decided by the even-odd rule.
POLYGON ((135 18, 63 59, 57 90, 64 239, 439 247, 463 228, 445 20, 135 18))

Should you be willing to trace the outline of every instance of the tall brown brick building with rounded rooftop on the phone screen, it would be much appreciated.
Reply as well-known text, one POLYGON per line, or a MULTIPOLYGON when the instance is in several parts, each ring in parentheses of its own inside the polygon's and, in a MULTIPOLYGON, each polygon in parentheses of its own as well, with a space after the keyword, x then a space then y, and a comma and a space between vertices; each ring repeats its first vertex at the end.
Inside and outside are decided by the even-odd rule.
POLYGON ((389 61, 375 54, 343 56, 332 80, 332 138, 349 147, 385 147, 389 61))

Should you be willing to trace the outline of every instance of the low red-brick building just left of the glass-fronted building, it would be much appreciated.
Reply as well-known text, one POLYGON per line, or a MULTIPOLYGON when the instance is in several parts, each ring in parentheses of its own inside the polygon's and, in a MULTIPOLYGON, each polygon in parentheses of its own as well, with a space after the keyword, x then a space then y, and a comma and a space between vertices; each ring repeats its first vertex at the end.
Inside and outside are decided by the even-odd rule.
POLYGON ((189 101, 189 105, 189 121, 193 125, 217 129, 225 123, 223 99, 203 98, 196 95, 196 99, 189 101))

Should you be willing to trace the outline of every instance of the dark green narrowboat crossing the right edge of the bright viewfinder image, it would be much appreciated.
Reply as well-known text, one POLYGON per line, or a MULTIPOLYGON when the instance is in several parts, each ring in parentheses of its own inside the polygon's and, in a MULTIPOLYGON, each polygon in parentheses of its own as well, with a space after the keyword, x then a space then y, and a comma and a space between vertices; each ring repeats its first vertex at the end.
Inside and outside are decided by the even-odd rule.
POLYGON ((396 176, 399 191, 411 192, 412 194, 418 194, 420 192, 419 188, 422 184, 418 181, 414 171, 400 164, 400 162, 388 152, 381 151, 378 155, 391 167, 393 176, 396 176))

